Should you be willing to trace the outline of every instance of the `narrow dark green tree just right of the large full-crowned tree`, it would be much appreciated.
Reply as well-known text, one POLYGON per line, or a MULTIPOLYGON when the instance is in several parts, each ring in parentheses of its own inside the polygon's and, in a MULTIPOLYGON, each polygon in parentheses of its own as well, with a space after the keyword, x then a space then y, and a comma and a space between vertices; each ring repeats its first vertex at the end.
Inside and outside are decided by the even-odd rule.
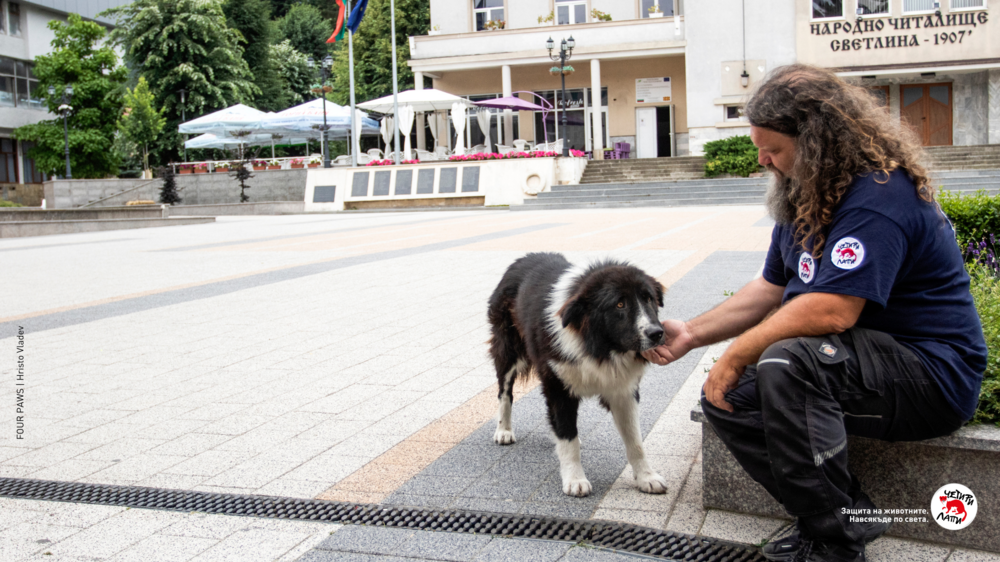
POLYGON ((271 45, 280 35, 276 22, 271 21, 271 1, 226 0, 222 11, 229 27, 242 35, 243 60, 260 88, 253 105, 261 111, 285 109, 289 96, 278 75, 278 61, 271 57, 271 45))

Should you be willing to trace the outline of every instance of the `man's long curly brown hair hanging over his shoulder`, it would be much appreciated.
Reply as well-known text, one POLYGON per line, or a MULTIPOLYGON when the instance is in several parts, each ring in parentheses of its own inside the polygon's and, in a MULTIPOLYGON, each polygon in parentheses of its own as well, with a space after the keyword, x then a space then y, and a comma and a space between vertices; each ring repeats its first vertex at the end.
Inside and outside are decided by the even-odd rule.
POLYGON ((921 199, 934 201, 916 134, 867 89, 829 70, 802 64, 778 68, 747 102, 745 113, 751 125, 795 139, 795 162, 786 178, 796 209, 795 240, 808 243, 814 257, 822 254, 825 229, 859 175, 874 173, 885 183, 899 168, 921 199))

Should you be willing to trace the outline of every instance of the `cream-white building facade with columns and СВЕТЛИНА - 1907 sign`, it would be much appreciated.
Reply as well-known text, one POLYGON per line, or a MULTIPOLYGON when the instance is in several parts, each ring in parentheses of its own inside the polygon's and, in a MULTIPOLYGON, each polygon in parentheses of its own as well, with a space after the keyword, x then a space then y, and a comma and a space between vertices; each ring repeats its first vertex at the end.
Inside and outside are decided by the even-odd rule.
MULTIPOLYGON (((708 141, 749 132, 741 109, 768 71, 803 62, 871 88, 928 146, 1000 142, 1000 29, 987 0, 431 0, 430 6, 431 34, 410 38, 417 87, 430 78, 434 87, 472 100, 516 94, 568 108, 565 130, 556 112, 508 112, 500 125, 504 139, 562 138, 597 152, 628 142, 633 158, 700 154, 708 141), (559 76, 549 72, 558 63, 545 44, 551 37, 558 53, 570 36, 575 72, 566 77, 564 101, 559 76)), ((471 121, 475 143, 483 133, 471 121)))

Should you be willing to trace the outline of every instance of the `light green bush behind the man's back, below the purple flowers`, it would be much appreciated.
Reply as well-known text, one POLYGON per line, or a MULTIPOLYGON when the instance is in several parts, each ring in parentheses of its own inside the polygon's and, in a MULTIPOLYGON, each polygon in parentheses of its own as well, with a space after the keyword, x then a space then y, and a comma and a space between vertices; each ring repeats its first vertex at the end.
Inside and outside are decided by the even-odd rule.
POLYGON ((969 265, 970 291, 986 337, 987 363, 974 423, 1000 426, 1000 277, 990 268, 969 265))

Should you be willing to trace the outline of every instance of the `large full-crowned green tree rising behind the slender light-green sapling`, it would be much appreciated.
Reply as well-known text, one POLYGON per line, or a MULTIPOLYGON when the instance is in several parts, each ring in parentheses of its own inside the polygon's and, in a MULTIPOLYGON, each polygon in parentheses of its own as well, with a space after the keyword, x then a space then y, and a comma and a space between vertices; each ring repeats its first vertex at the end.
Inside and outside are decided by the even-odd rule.
POLYGON ((221 0, 135 0, 100 14, 116 21, 110 39, 149 82, 167 124, 150 153, 154 161, 179 160, 181 89, 186 117, 252 104, 260 94, 243 59, 240 33, 229 28, 221 0))

